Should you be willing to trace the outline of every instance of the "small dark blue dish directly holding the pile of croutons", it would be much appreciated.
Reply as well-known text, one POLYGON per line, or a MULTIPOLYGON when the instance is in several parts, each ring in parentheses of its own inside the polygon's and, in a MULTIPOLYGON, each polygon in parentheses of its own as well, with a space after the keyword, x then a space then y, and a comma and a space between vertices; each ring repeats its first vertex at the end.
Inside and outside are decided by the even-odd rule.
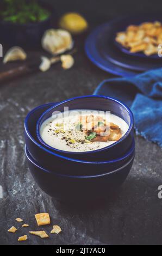
POLYGON ((127 48, 125 48, 124 46, 122 46, 121 44, 119 44, 118 42, 115 41, 116 33, 121 32, 121 31, 126 31, 126 28, 129 25, 140 25, 143 22, 154 22, 154 21, 162 22, 161 15, 159 15, 159 14, 157 14, 157 15, 142 15, 142 16, 138 15, 136 17, 126 17, 124 19, 120 19, 120 22, 117 22, 118 26, 117 26, 117 30, 115 31, 115 34, 114 34, 114 44, 120 49, 121 52, 126 53, 129 56, 146 58, 147 60, 148 59, 159 59, 160 57, 158 56, 158 54, 146 56, 142 52, 136 52, 136 53, 129 52, 129 50, 127 48))

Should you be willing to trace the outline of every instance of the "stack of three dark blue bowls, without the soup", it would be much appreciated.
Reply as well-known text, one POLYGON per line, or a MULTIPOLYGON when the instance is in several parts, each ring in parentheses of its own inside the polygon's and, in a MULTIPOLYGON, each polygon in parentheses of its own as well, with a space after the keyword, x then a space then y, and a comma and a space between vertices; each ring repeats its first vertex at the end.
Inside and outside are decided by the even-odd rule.
POLYGON ((135 156, 134 119, 122 102, 105 96, 82 96, 48 103, 30 111, 24 122, 26 157, 40 188, 63 201, 81 202, 111 196, 126 180, 135 156), (96 150, 75 152, 53 148, 40 136, 40 127, 54 111, 91 109, 110 111, 128 130, 116 142, 96 150))

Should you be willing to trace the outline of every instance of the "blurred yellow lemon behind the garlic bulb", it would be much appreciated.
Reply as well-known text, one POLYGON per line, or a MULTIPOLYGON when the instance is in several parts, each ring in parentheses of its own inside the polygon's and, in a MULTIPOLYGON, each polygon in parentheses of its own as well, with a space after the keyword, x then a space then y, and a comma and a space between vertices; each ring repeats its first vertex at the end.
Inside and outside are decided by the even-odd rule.
POLYGON ((60 18, 59 26, 72 34, 79 34, 88 28, 88 22, 78 13, 66 13, 60 18))

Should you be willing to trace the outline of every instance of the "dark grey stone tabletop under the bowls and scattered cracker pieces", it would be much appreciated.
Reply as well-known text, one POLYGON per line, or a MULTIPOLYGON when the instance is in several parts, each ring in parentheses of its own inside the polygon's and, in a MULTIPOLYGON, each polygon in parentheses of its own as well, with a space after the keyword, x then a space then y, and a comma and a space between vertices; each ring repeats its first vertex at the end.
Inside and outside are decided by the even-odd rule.
MULTIPOLYGON (((86 1, 87 4, 88 2, 92 1, 86 1)), ((148 1, 144 2, 149 5, 148 1)), ((60 3, 58 5, 61 10, 60 3)), ((96 8, 97 6, 98 4, 96 8)), ((68 10, 65 7, 63 11, 68 10)), ((114 3, 114 13, 115 8, 114 3)), ((97 10, 101 17, 102 11, 99 8, 97 10)), ((89 11, 90 8, 88 14, 89 11)), ((120 9, 118 13, 119 11, 120 9)), ((103 20, 106 20, 104 8, 103 12, 103 20)), ((90 204, 84 208, 74 209, 71 205, 61 204, 47 196, 35 184, 27 167, 23 138, 26 114, 43 103, 92 94, 99 82, 110 77, 85 57, 83 40, 78 40, 82 44, 79 44, 76 63, 71 70, 65 71, 57 64, 45 73, 40 72, 1 85, 0 185, 3 187, 3 199, 0 199, 0 244, 17 245, 17 237, 28 235, 29 230, 46 230, 50 233, 52 225, 40 228, 36 226, 34 214, 38 212, 49 212, 52 224, 60 225, 63 232, 59 235, 52 234, 49 239, 44 240, 28 235, 29 239, 21 244, 161 244, 162 200, 158 199, 158 186, 162 185, 162 160, 161 149, 157 145, 136 137, 135 161, 120 191, 116 196, 112 195, 109 202, 90 204), (7 230, 12 225, 21 227, 21 223, 15 221, 17 217, 23 218, 24 223, 28 223, 30 227, 20 228, 15 234, 8 233, 7 230)), ((39 52, 35 51, 34 54, 38 55, 39 52)))

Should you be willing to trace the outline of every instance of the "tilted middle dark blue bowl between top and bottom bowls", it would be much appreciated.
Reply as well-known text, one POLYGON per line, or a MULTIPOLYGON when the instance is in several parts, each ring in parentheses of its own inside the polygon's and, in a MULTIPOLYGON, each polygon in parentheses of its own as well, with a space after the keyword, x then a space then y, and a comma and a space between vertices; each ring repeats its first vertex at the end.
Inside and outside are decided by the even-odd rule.
POLYGON ((29 153, 32 155, 33 159, 44 168, 51 171, 57 169, 58 173, 68 175, 94 175, 121 167, 121 165, 128 161, 134 154, 134 139, 126 154, 119 159, 105 162, 96 162, 95 158, 93 162, 71 159, 43 147, 36 136, 36 122, 41 114, 51 106, 54 106, 54 104, 55 103, 48 103, 36 107, 28 113, 24 124, 24 135, 29 153))

